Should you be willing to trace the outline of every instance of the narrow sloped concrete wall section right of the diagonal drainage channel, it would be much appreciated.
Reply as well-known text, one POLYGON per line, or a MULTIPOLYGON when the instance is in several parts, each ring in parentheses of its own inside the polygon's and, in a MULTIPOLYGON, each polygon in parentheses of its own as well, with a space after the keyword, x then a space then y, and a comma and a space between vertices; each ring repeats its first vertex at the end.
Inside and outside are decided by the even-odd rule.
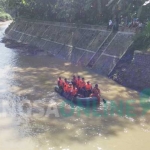
POLYGON ((118 32, 94 65, 96 72, 109 75, 132 44, 133 33, 118 32))

